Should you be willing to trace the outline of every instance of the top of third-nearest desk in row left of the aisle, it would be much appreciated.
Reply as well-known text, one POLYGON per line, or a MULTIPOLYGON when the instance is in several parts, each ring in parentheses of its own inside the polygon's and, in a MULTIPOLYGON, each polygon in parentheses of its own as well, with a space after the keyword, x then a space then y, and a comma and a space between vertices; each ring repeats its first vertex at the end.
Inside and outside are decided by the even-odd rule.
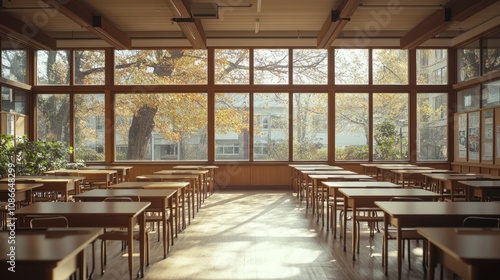
POLYGON ((76 194, 75 199, 96 199, 113 196, 139 196, 142 199, 150 198, 169 198, 175 194, 175 189, 94 189, 84 193, 76 194))

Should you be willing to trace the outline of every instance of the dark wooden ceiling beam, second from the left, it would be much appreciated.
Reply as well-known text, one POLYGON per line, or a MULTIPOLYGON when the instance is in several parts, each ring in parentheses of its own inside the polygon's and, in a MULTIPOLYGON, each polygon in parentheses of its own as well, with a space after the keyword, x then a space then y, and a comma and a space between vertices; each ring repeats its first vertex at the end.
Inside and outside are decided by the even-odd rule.
POLYGON ((54 9, 96 34, 117 49, 130 49, 132 41, 125 32, 106 18, 96 14, 90 7, 79 0, 43 0, 54 9))

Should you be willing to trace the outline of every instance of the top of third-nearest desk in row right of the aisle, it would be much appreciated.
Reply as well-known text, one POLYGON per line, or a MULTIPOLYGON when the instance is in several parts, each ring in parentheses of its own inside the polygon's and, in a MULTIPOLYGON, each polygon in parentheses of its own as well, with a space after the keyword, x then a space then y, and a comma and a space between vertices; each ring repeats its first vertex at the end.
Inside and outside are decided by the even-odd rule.
POLYGON ((395 196, 415 196, 421 198, 439 198, 440 194, 422 189, 398 189, 398 188, 345 188, 339 189, 345 197, 373 197, 373 198, 390 198, 395 196))

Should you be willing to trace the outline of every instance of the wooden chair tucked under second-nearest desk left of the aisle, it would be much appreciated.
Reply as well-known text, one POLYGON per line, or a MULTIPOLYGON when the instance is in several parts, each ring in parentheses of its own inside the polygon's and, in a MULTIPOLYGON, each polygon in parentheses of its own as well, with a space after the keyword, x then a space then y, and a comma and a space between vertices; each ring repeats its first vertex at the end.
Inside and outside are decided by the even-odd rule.
MULTIPOLYGON (((112 201, 140 201, 138 196, 115 196, 107 197, 104 202, 112 201)), ((140 231, 134 230, 133 239, 139 241, 140 231)), ((146 229, 146 265, 149 265, 149 229, 146 229)), ((107 246, 106 242, 109 240, 122 241, 122 250, 125 249, 125 243, 128 240, 128 231, 121 228, 108 229, 104 228, 104 232, 99 235, 98 239, 101 240, 101 274, 104 274, 104 267, 106 266, 107 259, 107 246)))

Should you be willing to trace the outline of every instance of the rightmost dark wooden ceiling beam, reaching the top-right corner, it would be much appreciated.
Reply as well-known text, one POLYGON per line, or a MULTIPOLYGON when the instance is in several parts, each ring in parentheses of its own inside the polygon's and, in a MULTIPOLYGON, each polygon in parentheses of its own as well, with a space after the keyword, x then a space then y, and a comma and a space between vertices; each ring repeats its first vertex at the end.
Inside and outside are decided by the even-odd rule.
POLYGON ((498 0, 452 0, 420 22, 400 39, 400 47, 413 49, 448 29, 454 21, 464 21, 498 0))

